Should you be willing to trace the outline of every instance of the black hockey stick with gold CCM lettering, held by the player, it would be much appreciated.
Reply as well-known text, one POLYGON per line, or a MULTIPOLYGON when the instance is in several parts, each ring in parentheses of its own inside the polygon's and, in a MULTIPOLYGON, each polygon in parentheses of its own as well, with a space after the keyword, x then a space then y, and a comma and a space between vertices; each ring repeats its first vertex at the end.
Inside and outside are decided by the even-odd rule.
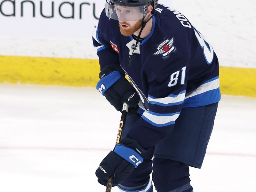
MULTIPOLYGON (((119 125, 119 129, 118 129, 117 137, 116 137, 116 145, 120 142, 120 139, 122 137, 122 132, 124 130, 123 128, 124 128, 125 119, 126 119, 126 116, 128 113, 128 108, 129 108, 129 106, 124 102, 120 125, 119 125)), ((112 175, 108 178, 108 185, 106 188, 106 192, 111 192, 113 178, 114 178, 114 175, 112 175)))

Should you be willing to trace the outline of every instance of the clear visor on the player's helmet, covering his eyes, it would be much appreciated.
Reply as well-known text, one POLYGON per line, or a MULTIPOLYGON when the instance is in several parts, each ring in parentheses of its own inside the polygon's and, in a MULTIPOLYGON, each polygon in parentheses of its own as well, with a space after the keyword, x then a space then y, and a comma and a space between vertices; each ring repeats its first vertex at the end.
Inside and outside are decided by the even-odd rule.
POLYGON ((106 15, 110 19, 119 21, 137 21, 147 14, 147 6, 125 7, 120 5, 112 5, 111 0, 106 1, 106 15))

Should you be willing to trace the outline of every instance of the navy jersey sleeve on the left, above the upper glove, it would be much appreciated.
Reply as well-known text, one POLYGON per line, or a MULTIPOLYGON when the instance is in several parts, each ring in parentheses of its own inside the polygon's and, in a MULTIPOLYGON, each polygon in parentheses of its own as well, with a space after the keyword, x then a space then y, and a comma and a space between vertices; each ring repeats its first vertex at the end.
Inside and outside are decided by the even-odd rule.
POLYGON ((119 56, 112 49, 110 41, 105 34, 108 31, 108 19, 106 19, 105 11, 101 13, 99 25, 95 28, 92 34, 92 42, 95 49, 97 49, 97 55, 100 60, 100 69, 103 69, 109 65, 120 66, 119 56))

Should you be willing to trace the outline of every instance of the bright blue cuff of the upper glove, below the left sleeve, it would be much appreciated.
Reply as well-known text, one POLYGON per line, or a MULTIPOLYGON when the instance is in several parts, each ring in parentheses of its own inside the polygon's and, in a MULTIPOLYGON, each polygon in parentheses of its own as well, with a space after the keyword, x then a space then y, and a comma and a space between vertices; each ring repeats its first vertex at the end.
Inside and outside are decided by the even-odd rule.
POLYGON ((100 79, 100 81, 97 83, 96 89, 102 95, 104 95, 105 92, 121 78, 122 75, 118 71, 113 71, 112 73, 100 79))

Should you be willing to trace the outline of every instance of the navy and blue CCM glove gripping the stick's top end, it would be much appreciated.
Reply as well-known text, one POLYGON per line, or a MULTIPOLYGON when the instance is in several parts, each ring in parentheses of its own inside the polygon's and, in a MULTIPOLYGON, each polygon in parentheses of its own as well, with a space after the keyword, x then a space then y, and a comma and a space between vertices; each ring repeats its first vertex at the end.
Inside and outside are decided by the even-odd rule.
POLYGON ((134 87, 125 79, 124 73, 112 68, 104 68, 100 72, 97 90, 102 93, 117 111, 122 110, 123 103, 129 105, 129 112, 137 112, 140 97, 134 87))

